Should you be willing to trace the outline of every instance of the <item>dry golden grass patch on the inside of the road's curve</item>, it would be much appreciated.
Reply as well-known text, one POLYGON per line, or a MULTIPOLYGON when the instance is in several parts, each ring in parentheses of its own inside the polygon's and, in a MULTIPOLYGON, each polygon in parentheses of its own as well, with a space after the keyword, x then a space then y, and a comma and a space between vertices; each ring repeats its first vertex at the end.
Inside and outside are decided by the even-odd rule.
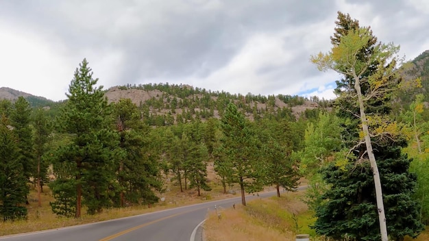
MULTIPOLYGON (((325 240, 317 237, 308 225, 315 222, 312 212, 302 202, 304 192, 284 193, 282 197, 249 201, 246 207, 210 212, 204 223, 206 241, 295 241, 298 233, 310 234, 310 240, 325 240)), ((406 237, 404 241, 427 241, 429 231, 416 239, 406 237)))

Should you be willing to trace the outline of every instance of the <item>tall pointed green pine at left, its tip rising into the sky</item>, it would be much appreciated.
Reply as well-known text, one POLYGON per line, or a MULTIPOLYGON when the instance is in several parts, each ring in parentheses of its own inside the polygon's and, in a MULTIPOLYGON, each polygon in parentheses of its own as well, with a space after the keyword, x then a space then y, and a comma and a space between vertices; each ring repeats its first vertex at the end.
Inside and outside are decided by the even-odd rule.
POLYGON ((61 187, 75 186, 76 198, 70 203, 76 204, 76 218, 81 216, 82 205, 86 205, 88 214, 111 205, 109 188, 114 180, 114 148, 119 137, 112 131, 110 105, 102 86, 95 87, 97 81, 84 59, 76 68, 66 94, 69 99, 58 119, 60 131, 71 135, 71 142, 56 152, 56 165, 68 172, 66 178, 71 184, 58 185, 53 194, 68 200, 63 198, 66 192, 61 187))

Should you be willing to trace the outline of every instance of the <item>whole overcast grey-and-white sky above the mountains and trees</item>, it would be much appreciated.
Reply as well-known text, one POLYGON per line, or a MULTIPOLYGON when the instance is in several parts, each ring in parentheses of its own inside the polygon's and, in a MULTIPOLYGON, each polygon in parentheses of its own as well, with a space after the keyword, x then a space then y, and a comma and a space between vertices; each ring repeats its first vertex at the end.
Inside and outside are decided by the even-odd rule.
POLYGON ((66 99, 84 58, 104 88, 189 84, 233 94, 334 97, 336 12, 411 60, 429 49, 426 0, 0 0, 0 87, 66 99))

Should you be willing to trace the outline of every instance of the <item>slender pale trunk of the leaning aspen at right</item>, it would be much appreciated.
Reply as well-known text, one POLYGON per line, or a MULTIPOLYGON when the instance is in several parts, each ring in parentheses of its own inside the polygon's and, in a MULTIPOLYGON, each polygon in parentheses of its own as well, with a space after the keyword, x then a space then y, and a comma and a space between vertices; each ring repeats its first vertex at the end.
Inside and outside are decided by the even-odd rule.
POLYGON ((376 187, 376 200, 377 200, 377 209, 378 209, 378 221, 380 223, 381 240, 389 241, 387 236, 386 216, 384 214, 383 193, 381 189, 380 173, 378 173, 376 157, 374 156, 372 144, 371 144, 371 137, 369 136, 368 121, 367 121, 367 116, 365 115, 365 107, 363 105, 362 92, 360 90, 360 79, 356 75, 354 75, 354 88, 356 89, 356 93, 358 94, 360 121, 362 122, 362 130, 363 130, 363 134, 365 135, 365 144, 367 146, 369 163, 371 164, 371 169, 373 171, 373 177, 374 177, 374 185, 376 187))

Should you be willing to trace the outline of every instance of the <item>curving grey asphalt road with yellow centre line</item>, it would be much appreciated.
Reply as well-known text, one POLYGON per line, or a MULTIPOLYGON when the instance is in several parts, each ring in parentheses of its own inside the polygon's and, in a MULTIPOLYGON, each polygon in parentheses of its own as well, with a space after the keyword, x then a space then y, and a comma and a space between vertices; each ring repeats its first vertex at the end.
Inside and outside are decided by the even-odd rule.
MULTIPOLYGON (((273 196, 275 192, 249 195, 246 200, 273 196)), ((8 241, 45 241, 45 240, 145 240, 145 241, 189 241, 191 233, 206 218, 208 210, 241 205, 241 197, 210 201, 171 210, 141 214, 127 218, 118 218, 99 223, 50 229, 33 233, 21 233, 3 236, 8 241)), ((197 239, 198 240, 198 239, 197 239)))

